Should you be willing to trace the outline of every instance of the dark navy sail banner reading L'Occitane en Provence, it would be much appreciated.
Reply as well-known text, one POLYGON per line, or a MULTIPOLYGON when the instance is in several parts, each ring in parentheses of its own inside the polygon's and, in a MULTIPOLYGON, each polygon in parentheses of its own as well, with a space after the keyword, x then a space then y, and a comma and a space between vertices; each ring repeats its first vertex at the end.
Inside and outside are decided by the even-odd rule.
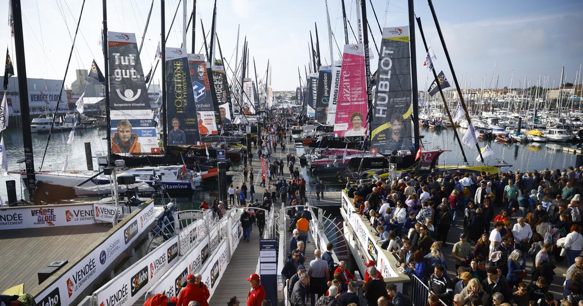
POLYGON ((189 72, 186 49, 166 48, 168 145, 198 145, 201 142, 200 132, 205 132, 199 132, 201 125, 189 72))

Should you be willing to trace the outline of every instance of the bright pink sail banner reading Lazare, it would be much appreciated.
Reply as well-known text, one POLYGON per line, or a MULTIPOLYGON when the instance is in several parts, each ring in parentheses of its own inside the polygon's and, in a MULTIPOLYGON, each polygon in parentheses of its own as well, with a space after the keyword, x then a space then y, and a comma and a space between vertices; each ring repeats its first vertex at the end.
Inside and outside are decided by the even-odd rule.
POLYGON ((368 108, 363 44, 344 46, 339 88, 335 136, 364 136, 368 108))

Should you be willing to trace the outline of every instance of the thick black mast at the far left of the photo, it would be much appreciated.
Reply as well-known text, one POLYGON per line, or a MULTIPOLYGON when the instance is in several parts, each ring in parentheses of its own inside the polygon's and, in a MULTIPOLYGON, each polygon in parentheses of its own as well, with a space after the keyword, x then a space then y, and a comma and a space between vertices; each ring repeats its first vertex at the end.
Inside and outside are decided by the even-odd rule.
MULTIPOLYGON (((105 1, 105 0, 103 0, 105 1)), ((20 0, 10 0, 12 4, 14 47, 16 71, 18 73, 18 94, 22 118, 22 138, 24 145, 24 164, 26 165, 26 187, 29 189, 30 202, 33 201, 36 189, 36 175, 34 175, 33 139, 30 132, 29 88, 26 79, 26 62, 24 61, 24 37, 22 33, 22 7, 20 0)), ((107 36, 106 36, 107 37, 107 36)), ((106 38, 107 39, 107 38, 106 38)), ((107 83, 106 83, 107 84, 107 83)), ((107 133, 109 135, 109 133, 107 133)))

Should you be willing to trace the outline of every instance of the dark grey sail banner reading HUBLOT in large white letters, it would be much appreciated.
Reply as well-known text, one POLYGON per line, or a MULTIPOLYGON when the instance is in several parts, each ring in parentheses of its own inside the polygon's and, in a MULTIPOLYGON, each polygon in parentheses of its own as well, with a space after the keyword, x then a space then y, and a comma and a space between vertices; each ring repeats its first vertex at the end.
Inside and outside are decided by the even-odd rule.
POLYGON ((380 153, 409 150, 412 146, 410 62, 409 26, 385 27, 371 121, 371 149, 380 153))

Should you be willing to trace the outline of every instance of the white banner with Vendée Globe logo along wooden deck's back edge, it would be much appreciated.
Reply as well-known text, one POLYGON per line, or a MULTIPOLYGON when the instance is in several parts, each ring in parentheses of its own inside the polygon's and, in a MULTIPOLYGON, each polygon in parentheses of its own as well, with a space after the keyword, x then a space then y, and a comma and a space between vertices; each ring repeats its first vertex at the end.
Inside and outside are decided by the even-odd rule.
POLYGON ((49 205, 0 210, 0 230, 93 223, 92 205, 49 205))

